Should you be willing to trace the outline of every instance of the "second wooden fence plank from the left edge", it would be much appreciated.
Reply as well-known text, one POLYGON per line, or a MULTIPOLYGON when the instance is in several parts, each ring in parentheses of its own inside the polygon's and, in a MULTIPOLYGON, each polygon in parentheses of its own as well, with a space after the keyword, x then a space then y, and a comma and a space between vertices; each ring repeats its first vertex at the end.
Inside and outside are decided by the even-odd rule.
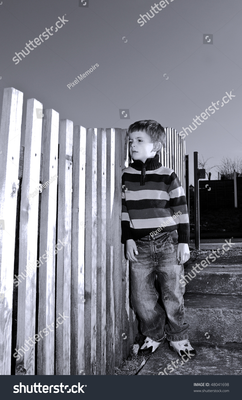
POLYGON ((22 374, 23 368, 26 370, 26 375, 34 375, 35 366, 35 346, 33 344, 28 345, 25 342, 30 342, 30 338, 35 335, 38 188, 42 129, 42 118, 37 118, 36 116, 37 109, 42 109, 42 104, 35 99, 29 99, 27 101, 24 167, 21 187, 18 269, 20 283, 18 286, 17 349, 20 349, 18 351, 24 354, 19 360, 16 360, 16 375, 22 374), (35 265, 33 262, 35 262, 35 265))

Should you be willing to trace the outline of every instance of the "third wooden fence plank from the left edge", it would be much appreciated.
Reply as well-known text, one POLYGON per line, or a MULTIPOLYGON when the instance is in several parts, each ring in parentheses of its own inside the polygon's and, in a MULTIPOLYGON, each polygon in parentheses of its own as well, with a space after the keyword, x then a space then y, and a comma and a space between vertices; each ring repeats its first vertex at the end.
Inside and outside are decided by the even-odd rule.
POLYGON ((43 119, 44 157, 42 180, 46 184, 41 193, 39 255, 49 254, 49 260, 39 266, 38 332, 45 329, 48 336, 38 342, 38 375, 54 375, 55 349, 55 240, 57 209, 59 113, 45 110, 43 119), (56 176, 55 176, 56 175, 56 176), (47 250, 47 252, 46 252, 47 250), (49 326, 49 330, 46 328, 49 326))

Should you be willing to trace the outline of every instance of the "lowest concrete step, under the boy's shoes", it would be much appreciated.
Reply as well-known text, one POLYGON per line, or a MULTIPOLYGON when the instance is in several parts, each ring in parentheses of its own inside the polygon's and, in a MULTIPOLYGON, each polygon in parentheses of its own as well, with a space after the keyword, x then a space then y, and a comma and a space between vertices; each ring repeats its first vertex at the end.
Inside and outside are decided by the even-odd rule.
MULTIPOLYGON (((224 346, 213 346, 211 344, 192 343, 197 351, 196 358, 191 360, 185 357, 182 360, 178 358, 176 353, 171 352, 166 342, 164 346, 160 346, 155 353, 151 354, 146 364, 140 370, 138 375, 241 375, 242 374, 242 344, 230 343, 224 346), (175 368, 171 362, 174 362, 175 368), (165 368, 169 370, 165 370, 165 368), (173 368, 173 370, 172 370, 173 368), (162 373, 161 373, 162 372, 162 373)), ((165 379, 165 378, 164 378, 165 379)), ((162 381, 163 382, 163 381, 162 381)), ((197 382, 197 381, 195 381, 197 382)), ((219 382, 217 379, 215 382, 219 382)), ((222 380, 221 382, 226 382, 222 380)), ((162 383, 161 383, 162 384, 162 383)), ((194 389, 207 389, 194 388, 194 389)), ((209 389, 212 389, 210 386, 209 389)), ((216 387, 215 389, 220 389, 216 387)), ((226 387, 222 386, 222 389, 226 387)), ((227 388, 229 390, 229 387, 227 388)))

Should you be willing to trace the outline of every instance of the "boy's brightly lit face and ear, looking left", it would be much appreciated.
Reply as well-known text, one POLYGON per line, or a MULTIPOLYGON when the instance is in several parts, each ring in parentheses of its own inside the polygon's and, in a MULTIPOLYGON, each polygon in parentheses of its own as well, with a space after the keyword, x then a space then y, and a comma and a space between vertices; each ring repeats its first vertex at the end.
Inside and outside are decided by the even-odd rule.
POLYGON ((132 132, 129 135, 129 150, 133 160, 146 162, 147 158, 154 157, 161 148, 161 142, 151 142, 151 137, 142 131, 132 132))

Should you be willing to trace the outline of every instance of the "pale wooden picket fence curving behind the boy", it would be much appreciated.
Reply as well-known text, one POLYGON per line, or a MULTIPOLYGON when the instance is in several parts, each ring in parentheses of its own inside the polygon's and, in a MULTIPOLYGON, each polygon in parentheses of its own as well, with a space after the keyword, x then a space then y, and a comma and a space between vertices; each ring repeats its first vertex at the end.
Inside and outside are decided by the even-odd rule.
MULTIPOLYGON (((23 93, 5 88, 0 374, 114 374, 138 332, 120 241, 127 130, 73 128, 29 99, 23 147, 22 106, 23 93)), ((166 131, 160 160, 185 188, 185 142, 166 131)))

